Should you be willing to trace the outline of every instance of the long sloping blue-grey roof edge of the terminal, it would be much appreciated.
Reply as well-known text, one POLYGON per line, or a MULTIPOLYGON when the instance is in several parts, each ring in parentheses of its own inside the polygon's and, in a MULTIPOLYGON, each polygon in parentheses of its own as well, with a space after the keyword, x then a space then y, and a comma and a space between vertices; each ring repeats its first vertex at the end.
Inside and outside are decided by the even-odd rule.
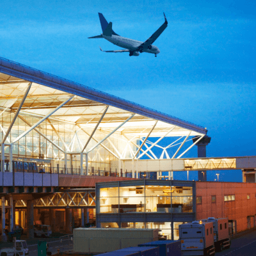
POLYGON ((192 124, 191 122, 181 120, 171 115, 167 115, 160 111, 156 111, 140 104, 136 104, 129 100, 125 100, 109 93, 104 93, 100 90, 93 89, 89 86, 83 84, 75 83, 68 79, 64 79, 58 76, 54 76, 47 72, 37 70, 35 68, 22 65, 15 61, 7 60, 0 57, 0 70, 4 74, 10 76, 19 77, 34 83, 42 84, 44 86, 49 86, 56 90, 62 90, 64 92, 72 93, 80 97, 95 100, 109 106, 114 106, 116 108, 121 108, 133 113, 147 116, 149 118, 157 119, 168 124, 178 125, 185 129, 191 131, 199 132, 201 134, 207 134, 207 129, 200 125, 192 124))

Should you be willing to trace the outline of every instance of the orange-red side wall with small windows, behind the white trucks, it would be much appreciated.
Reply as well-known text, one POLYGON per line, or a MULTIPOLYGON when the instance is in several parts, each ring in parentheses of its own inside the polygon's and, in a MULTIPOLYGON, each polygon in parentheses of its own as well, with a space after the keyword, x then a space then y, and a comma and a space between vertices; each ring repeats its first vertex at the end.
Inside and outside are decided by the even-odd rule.
MULTIPOLYGON (((196 204, 196 220, 214 217, 236 220, 237 232, 248 228, 247 216, 256 214, 256 184, 241 182, 196 182, 196 196, 202 196, 202 204, 196 204), (216 195, 216 203, 212 203, 216 195), (235 195, 234 201, 224 202, 225 195, 235 195), (247 199, 250 195, 250 199, 247 199)), ((253 227, 253 218, 251 218, 253 227)))

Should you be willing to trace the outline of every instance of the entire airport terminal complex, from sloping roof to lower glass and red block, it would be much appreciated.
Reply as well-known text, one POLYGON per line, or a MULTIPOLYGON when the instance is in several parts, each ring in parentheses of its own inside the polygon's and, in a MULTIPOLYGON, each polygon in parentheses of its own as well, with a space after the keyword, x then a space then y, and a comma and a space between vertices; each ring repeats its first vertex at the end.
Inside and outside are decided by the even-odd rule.
POLYGON ((207 158, 205 127, 4 58, 0 137, 2 234, 19 224, 33 237, 36 221, 72 232, 94 220, 97 227, 160 225, 177 239, 179 223, 220 211, 237 231, 254 227, 254 203, 242 212, 237 205, 244 195, 255 200, 255 157, 207 158), (184 159, 195 146, 198 158, 184 159), (202 182, 173 180, 184 170, 198 171, 202 182), (205 182, 206 170, 243 170, 252 183, 205 182))

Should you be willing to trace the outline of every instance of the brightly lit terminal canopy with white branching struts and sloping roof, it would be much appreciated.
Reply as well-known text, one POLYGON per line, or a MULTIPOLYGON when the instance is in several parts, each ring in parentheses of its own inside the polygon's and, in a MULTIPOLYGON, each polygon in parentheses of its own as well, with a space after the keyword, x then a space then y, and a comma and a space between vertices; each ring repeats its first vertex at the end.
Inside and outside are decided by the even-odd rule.
POLYGON ((41 159, 53 169, 67 173, 72 167, 80 174, 109 171, 111 161, 117 161, 120 172, 124 160, 179 159, 195 145, 193 137, 197 142, 207 133, 204 127, 3 58, 0 88, 2 170, 4 159, 41 159), (153 142, 153 137, 159 139, 153 142), (160 146, 166 137, 175 140, 160 146), (162 150, 160 157, 154 147, 162 150))

